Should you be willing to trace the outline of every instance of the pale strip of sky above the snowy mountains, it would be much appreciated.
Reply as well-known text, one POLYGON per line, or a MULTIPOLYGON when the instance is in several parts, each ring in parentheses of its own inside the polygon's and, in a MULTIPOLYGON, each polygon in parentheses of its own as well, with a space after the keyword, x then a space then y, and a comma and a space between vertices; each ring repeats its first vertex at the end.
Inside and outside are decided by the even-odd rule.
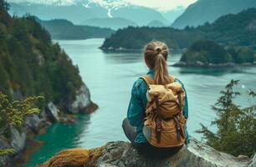
MULTIPOLYGON (((19 3, 19 2, 37 2, 37 3, 50 3, 50 2, 65 2, 65 3, 72 3, 75 0, 8 0, 8 2, 19 3)), ((83 0, 79 0, 83 1, 83 0)), ((108 0, 91 0, 94 2, 105 2, 108 0)), ((141 5, 149 8, 155 8, 161 11, 171 10, 178 7, 187 8, 188 5, 191 3, 195 3, 197 0, 112 0, 116 2, 127 2, 133 3, 136 5, 141 5)))

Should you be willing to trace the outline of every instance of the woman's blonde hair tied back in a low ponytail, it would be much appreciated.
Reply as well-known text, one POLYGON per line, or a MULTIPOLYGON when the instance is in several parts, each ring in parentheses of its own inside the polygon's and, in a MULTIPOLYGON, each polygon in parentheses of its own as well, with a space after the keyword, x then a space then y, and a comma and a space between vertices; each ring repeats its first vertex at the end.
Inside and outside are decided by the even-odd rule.
POLYGON ((169 49, 166 43, 161 43, 160 41, 148 43, 144 48, 146 64, 155 72, 155 84, 167 84, 172 82, 166 63, 168 53, 169 49))

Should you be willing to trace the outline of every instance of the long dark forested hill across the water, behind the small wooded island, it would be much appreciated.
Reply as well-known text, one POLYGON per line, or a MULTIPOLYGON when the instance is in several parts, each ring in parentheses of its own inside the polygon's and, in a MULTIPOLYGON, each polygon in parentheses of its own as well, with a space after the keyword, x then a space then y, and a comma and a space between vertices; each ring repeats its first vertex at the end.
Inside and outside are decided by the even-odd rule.
POLYGON ((197 28, 125 28, 106 38, 101 49, 141 49, 151 40, 161 40, 173 49, 187 48, 191 43, 208 39, 224 45, 255 46, 256 9, 228 14, 214 23, 197 28))

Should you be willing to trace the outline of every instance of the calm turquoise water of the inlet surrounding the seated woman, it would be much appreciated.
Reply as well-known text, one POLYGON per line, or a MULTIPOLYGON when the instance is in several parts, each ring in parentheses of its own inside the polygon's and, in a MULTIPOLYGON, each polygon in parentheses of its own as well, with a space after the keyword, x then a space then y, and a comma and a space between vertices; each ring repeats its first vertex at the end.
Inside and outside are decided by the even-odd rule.
MULTIPOLYGON (((100 106, 94 114, 78 115, 75 124, 54 124, 47 134, 36 139, 44 145, 36 151, 25 167, 44 162, 61 149, 82 147, 92 148, 111 140, 127 140, 121 129, 122 119, 131 95, 131 86, 136 78, 147 72, 141 53, 104 53, 99 47, 104 39, 58 41, 69 54, 90 89, 92 100, 100 106)), ((179 60, 180 54, 172 54, 168 64, 179 60)), ((188 131, 201 139, 195 130, 200 123, 210 126, 215 118, 211 105, 216 102, 219 92, 233 79, 240 79, 238 89, 256 90, 256 68, 174 68, 169 72, 185 84, 189 103, 188 131)), ((247 96, 238 103, 246 106, 247 96)))

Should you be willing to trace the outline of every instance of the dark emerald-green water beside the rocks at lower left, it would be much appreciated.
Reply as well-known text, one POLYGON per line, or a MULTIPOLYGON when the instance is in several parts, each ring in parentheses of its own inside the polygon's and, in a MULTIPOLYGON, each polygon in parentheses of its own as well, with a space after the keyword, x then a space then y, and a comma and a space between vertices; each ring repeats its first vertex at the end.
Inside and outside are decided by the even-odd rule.
POLYGON ((90 124, 90 115, 78 114, 74 124, 53 124, 47 129, 47 134, 38 135, 35 139, 43 141, 44 145, 36 151, 25 167, 43 163, 61 149, 74 148, 79 144, 81 135, 86 135, 90 124))

